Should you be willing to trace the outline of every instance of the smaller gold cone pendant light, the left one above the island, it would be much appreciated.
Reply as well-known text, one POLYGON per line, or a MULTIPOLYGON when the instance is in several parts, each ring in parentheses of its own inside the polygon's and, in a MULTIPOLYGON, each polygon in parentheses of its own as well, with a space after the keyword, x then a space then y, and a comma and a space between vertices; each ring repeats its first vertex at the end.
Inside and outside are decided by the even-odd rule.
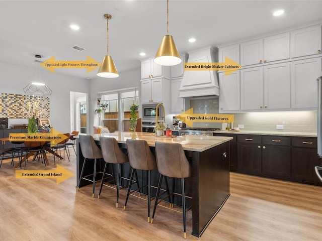
POLYGON ((107 55, 104 57, 97 75, 104 78, 116 78, 119 77, 119 73, 116 70, 112 57, 109 55, 109 20, 112 16, 105 14, 104 18, 107 20, 107 55))

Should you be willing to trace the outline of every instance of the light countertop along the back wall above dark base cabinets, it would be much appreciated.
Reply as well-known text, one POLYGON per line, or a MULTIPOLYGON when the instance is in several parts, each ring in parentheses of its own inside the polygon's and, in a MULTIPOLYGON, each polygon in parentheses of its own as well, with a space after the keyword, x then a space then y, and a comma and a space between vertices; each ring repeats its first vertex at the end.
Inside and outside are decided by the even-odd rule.
POLYGON ((290 136, 290 137, 317 137, 316 133, 309 132, 267 132, 267 131, 214 131, 222 134, 248 134, 248 135, 268 135, 268 136, 290 136))

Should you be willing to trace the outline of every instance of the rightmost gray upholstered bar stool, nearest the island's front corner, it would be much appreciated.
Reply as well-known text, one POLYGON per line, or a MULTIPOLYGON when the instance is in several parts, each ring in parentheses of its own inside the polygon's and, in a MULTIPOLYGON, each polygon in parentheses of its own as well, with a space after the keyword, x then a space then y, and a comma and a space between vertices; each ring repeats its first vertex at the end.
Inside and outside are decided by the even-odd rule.
POLYGON ((165 177, 180 178, 181 196, 182 196, 183 230, 184 230, 184 238, 186 238, 186 201, 185 201, 184 178, 191 176, 192 174, 191 165, 186 158, 182 145, 179 143, 155 142, 155 153, 156 153, 157 170, 161 175, 159 178, 159 183, 157 185, 151 223, 153 223, 156 206, 160 202, 158 201, 158 198, 159 198, 160 187, 161 187, 163 177, 165 176, 165 177))

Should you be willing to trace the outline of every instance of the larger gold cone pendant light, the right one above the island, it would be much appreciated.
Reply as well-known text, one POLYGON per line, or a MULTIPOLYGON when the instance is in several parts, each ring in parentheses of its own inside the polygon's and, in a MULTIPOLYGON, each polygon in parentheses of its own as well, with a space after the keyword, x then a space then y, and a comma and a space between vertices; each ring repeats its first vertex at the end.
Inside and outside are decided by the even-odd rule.
POLYGON ((159 65, 177 65, 181 63, 181 58, 173 40, 173 37, 169 34, 169 0, 167 0, 167 34, 163 37, 163 40, 157 50, 154 63, 159 65))

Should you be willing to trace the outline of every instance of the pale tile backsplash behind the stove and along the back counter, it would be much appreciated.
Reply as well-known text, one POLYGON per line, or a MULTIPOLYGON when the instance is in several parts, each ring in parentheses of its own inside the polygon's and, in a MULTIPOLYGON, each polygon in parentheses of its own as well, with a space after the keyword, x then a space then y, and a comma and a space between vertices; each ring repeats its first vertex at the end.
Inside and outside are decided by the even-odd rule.
MULTIPOLYGON (((190 108, 194 113, 219 113, 218 97, 200 97, 190 99, 190 108)), ((244 125, 243 131, 269 132, 317 132, 316 111, 285 111, 285 112, 249 112, 234 114, 234 127, 244 125), (282 130, 276 125, 283 126, 282 130)), ((221 123, 195 122, 194 128, 220 128, 221 123)))

